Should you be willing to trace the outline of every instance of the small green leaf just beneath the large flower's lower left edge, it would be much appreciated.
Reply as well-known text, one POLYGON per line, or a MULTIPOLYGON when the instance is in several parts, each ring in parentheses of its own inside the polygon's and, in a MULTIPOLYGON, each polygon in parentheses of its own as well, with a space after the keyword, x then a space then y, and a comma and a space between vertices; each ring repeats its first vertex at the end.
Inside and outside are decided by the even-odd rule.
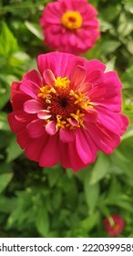
POLYGON ((19 155, 23 154, 23 150, 16 143, 15 135, 12 137, 9 146, 7 147, 7 163, 15 160, 19 155))

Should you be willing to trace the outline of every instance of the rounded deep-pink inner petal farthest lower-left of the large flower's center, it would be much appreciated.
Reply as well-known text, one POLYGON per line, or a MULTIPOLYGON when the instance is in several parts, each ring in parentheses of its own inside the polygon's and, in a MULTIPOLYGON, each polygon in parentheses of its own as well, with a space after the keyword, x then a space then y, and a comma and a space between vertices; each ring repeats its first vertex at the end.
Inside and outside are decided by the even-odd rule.
POLYGON ((41 137, 44 133, 46 133, 44 122, 39 119, 36 119, 33 122, 27 124, 26 128, 32 138, 41 137))

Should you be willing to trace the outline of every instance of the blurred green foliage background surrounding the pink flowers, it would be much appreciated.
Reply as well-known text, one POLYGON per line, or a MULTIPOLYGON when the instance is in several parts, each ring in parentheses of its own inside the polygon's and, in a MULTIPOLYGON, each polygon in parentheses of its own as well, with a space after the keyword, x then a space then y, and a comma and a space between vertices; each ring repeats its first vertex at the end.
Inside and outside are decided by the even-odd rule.
POLYGON ((26 159, 6 119, 11 82, 49 51, 38 24, 47 2, 0 0, 0 237, 107 237, 103 219, 112 213, 126 221, 119 236, 133 237, 133 1, 89 1, 101 37, 84 57, 117 70, 130 125, 112 155, 99 153, 77 174, 26 159))

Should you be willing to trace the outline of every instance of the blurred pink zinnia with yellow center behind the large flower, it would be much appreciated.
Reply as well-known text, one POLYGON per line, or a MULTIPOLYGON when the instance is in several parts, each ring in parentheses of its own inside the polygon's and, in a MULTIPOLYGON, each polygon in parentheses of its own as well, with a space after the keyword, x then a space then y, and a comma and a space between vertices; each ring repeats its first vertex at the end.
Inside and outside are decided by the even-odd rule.
POLYGON ((99 37, 97 10, 87 0, 48 3, 40 19, 45 44, 53 50, 81 54, 99 37))

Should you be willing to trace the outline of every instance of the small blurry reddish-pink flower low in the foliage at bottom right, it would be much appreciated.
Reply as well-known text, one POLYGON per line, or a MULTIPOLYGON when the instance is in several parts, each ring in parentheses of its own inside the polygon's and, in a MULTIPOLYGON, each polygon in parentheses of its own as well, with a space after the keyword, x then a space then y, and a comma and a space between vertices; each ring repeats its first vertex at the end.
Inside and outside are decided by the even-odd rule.
POLYGON ((120 234, 124 227, 125 221, 117 214, 112 214, 109 218, 104 219, 105 228, 109 236, 117 236, 120 234))

